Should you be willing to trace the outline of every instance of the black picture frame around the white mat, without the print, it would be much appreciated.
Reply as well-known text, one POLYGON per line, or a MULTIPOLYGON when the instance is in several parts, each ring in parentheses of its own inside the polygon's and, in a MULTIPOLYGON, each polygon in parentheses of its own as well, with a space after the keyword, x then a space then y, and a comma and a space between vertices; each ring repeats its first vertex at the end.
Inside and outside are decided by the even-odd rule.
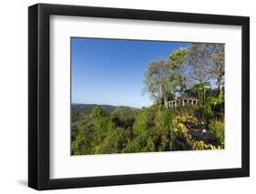
POLYGON ((224 179, 250 176, 250 18, 78 5, 37 4, 28 7, 28 186, 69 189, 179 180, 224 179), (241 168, 205 169, 118 176, 50 179, 49 18, 75 15, 148 21, 241 26, 242 123, 241 168))

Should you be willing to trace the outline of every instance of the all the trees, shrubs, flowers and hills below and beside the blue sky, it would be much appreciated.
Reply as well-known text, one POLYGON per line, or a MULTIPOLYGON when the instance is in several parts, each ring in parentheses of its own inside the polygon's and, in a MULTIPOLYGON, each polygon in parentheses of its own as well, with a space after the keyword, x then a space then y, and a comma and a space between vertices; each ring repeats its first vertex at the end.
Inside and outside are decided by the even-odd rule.
POLYGON ((224 148, 224 46, 190 44, 152 61, 150 107, 72 107, 72 155, 224 148), (180 97, 197 105, 167 107, 180 97))

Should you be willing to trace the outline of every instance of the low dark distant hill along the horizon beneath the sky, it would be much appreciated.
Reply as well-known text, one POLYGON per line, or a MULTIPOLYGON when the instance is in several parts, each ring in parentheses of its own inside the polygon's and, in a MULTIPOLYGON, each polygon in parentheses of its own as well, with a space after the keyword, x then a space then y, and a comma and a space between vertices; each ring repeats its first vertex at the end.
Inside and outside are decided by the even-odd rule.
MULTIPOLYGON (((103 110, 107 112, 112 112, 114 109, 117 108, 117 106, 112 106, 112 105, 97 105, 97 104, 72 104, 72 109, 73 110, 84 110, 84 111, 91 111, 93 107, 101 107, 103 110)), ((124 107, 124 106, 120 106, 124 107)), ((138 109, 136 107, 129 107, 131 109, 138 109)))

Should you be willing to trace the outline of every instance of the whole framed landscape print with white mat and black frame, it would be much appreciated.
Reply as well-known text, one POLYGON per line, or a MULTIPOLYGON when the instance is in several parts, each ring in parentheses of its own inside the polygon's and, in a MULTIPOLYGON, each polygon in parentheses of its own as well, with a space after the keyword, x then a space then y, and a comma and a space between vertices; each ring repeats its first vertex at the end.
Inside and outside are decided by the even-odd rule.
POLYGON ((250 19, 28 8, 28 185, 250 175, 250 19))

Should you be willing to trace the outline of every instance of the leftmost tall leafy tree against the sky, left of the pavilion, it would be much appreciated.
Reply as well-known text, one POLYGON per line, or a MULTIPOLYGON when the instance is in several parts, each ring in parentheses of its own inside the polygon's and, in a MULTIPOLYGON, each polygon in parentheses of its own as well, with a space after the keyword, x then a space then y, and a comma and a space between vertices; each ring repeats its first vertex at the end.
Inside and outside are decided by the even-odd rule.
POLYGON ((159 59, 148 65, 145 74, 146 90, 161 106, 167 104, 169 97, 174 97, 185 87, 184 64, 188 57, 186 48, 174 50, 169 59, 159 59))

